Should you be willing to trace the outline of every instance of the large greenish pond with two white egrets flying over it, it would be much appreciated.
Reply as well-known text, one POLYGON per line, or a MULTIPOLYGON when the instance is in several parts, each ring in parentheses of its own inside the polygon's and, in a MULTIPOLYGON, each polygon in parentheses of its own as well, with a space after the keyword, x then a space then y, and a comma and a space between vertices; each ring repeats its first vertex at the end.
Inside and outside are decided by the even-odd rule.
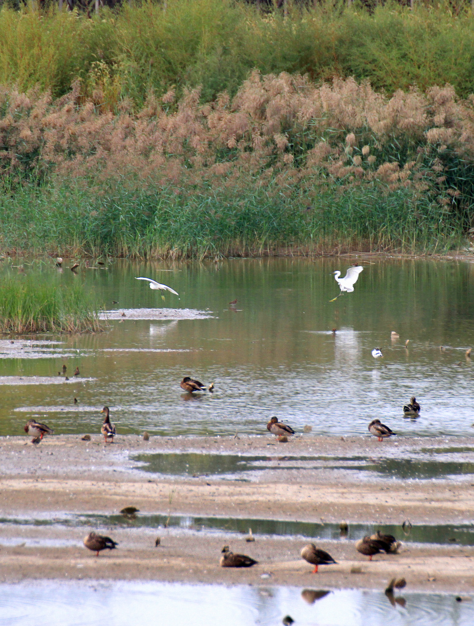
MULTIPOLYGON (((106 269, 81 266, 78 275, 24 265, 26 274, 83 282, 104 310, 166 307, 209 317, 128 315, 108 332, 36 338, 53 345, 22 349, 15 339, 0 350, 0 434, 23 434, 32 416, 56 433, 95 433, 104 405, 118 433, 265 434, 276 415, 316 434, 368 435, 373 418, 401 436, 473 434, 474 367, 465 351, 474 346, 474 264, 359 259, 355 292, 329 302, 339 293, 331 272, 353 262, 115 261, 106 269), (136 276, 170 285, 179 299, 166 292, 163 301, 136 276), (391 341, 391 331, 400 339, 391 341), (383 359, 371 356, 374 347, 383 359), (69 375, 79 366, 81 376, 58 377, 63 362, 69 375), (185 375, 214 382, 215 393, 184 394, 185 375), (401 411, 412 395, 421 404, 415 420, 401 411)), ((0 277, 18 272, 3 264, 0 277)))

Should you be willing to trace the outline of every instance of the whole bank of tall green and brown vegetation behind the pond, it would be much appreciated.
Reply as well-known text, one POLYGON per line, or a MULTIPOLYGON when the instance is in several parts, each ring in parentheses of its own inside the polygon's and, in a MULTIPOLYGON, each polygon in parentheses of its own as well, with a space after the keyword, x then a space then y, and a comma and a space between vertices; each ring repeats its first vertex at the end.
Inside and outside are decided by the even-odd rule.
POLYGON ((287 8, 1 9, 0 249, 460 245, 474 228, 471 14, 287 8))

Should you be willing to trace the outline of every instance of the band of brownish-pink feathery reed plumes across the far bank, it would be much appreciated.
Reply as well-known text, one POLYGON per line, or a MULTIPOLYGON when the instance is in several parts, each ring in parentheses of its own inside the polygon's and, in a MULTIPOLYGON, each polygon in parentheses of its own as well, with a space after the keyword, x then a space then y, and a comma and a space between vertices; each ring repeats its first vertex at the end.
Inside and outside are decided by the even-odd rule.
POLYGON ((100 91, 84 101, 80 83, 56 101, 4 88, 0 172, 74 177, 99 192, 114 179, 189 194, 251 183, 290 195, 297 185, 310 197, 331 183, 381 185, 433 193, 448 207, 463 193, 449 163, 474 162, 472 103, 449 85, 388 98, 351 79, 316 86, 258 71, 233 100, 224 93, 203 105, 196 89, 175 102, 171 90, 137 112, 123 102, 112 113, 100 91))

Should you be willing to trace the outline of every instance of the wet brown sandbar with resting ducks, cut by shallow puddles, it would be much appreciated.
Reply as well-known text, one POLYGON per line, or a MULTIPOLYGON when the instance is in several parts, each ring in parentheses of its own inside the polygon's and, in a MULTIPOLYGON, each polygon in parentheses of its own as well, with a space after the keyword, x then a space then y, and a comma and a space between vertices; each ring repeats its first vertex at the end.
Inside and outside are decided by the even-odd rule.
MULTIPOLYGON (((328 455, 409 458, 418 451, 474 446, 474 438, 403 438, 378 443, 370 437, 298 436, 286 444, 271 436, 153 437, 120 436, 107 445, 98 435, 52 436, 34 446, 30 438, 0 439, 1 515, 54 516, 70 513, 118 513, 124 506, 142 515, 203 515, 348 523, 471 523, 474 485, 463 476, 449 480, 403 481, 361 478, 341 480, 330 469, 278 469, 258 473, 250 482, 196 476, 161 478, 137 469, 132 454, 153 452, 227 453, 256 456, 328 455)), ((246 543, 173 528, 97 528, 119 541, 118 550, 96 558, 81 546, 89 530, 66 526, 0 526, 0 580, 22 578, 115 578, 162 581, 228 582, 325 587, 383 588, 392 575, 405 576, 411 590, 470 592, 474 583, 474 546, 404 544, 398 555, 376 555, 368 562, 351 541, 318 541, 338 561, 311 574, 299 558, 305 540, 261 537, 246 543), (21 528, 21 536, 19 529, 21 528), (153 534, 151 531, 153 530, 153 534), (161 546, 154 539, 161 533, 161 546), (53 547, 32 546, 39 538, 53 547), (64 546, 54 546, 54 541, 64 546), (245 570, 218 565, 224 543, 259 564, 245 570), (16 544, 16 545, 15 545, 16 544), (270 577, 267 574, 270 573, 270 577), (261 576, 264 578, 261 578, 261 576), (430 580, 432 579, 432 580, 430 580)), ((400 537, 403 533, 400 527, 400 537)))

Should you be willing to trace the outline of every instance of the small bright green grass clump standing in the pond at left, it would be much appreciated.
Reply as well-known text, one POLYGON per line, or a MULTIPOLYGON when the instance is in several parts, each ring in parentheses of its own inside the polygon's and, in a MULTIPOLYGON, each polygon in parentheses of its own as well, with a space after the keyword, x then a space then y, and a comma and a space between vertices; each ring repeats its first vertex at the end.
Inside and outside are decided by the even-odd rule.
POLYGON ((0 278, 0 332, 96 332, 99 310, 79 284, 38 277, 0 278))

